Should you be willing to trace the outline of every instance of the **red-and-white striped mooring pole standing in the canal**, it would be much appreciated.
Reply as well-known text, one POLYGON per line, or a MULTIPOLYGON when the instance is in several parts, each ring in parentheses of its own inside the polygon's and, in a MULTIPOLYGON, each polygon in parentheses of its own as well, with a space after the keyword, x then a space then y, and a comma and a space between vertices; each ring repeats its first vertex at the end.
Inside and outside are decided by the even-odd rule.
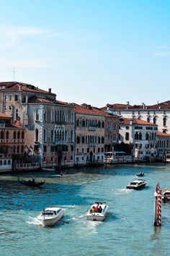
POLYGON ((155 200, 155 218, 154 218, 154 226, 161 226, 161 200, 162 200, 162 190, 159 184, 156 185, 156 192, 154 193, 155 200))

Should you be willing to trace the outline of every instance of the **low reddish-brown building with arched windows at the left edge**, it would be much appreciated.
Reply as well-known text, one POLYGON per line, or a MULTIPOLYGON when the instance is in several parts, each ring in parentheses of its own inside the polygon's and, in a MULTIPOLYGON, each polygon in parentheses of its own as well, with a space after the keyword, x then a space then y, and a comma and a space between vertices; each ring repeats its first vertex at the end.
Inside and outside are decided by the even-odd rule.
POLYGON ((13 159, 24 157, 25 128, 19 116, 12 122, 12 116, 0 114, 0 171, 10 170, 13 159), (17 157, 18 156, 18 157, 17 157))

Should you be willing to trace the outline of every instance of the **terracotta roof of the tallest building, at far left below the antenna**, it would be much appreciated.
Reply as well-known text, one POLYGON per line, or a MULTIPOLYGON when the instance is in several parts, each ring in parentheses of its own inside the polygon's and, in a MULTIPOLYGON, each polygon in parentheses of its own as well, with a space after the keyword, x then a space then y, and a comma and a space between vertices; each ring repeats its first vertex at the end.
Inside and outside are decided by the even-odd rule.
POLYGON ((0 82, 0 90, 24 90, 24 91, 29 91, 29 92, 34 92, 34 93, 45 93, 45 94, 50 94, 50 95, 55 95, 55 93, 49 93, 46 90, 41 90, 35 85, 30 85, 24 82, 0 82), (1 88, 5 87, 5 88, 1 88))

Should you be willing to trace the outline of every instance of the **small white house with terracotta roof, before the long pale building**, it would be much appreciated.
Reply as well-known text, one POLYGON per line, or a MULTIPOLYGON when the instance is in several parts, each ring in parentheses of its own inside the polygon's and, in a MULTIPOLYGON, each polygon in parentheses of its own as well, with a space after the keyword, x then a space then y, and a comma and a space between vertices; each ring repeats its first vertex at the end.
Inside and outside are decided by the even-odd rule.
POLYGON ((155 160, 158 125, 140 119, 120 119, 120 142, 133 146, 135 161, 155 160))

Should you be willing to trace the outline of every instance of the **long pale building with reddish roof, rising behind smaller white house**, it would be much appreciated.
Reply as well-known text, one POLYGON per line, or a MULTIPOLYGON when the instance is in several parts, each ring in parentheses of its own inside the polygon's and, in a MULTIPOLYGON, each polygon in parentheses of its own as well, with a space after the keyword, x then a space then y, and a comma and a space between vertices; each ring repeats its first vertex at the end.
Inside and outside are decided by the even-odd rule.
POLYGON ((107 104, 107 106, 101 109, 108 113, 116 114, 120 118, 140 119, 158 124, 159 131, 170 133, 170 101, 156 103, 154 105, 141 103, 140 105, 133 106, 127 101, 127 104, 107 104))

